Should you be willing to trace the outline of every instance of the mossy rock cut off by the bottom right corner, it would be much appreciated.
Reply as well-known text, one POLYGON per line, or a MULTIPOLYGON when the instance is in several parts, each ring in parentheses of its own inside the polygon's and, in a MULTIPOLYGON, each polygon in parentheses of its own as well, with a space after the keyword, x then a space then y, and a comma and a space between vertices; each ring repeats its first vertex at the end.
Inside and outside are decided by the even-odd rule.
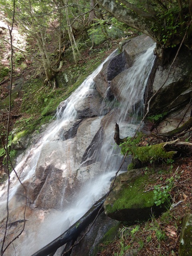
POLYGON ((192 214, 185 216, 180 234, 179 256, 192 255, 192 214))

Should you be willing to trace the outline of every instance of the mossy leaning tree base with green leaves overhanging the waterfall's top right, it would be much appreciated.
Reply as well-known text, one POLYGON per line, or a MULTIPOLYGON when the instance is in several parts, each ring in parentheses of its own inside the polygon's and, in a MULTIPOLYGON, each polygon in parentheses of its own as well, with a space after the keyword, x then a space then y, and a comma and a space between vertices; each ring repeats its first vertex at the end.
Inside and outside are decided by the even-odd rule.
POLYGON ((98 3, 118 20, 153 38, 162 62, 168 50, 182 41, 192 50, 191 0, 98 0, 98 3))

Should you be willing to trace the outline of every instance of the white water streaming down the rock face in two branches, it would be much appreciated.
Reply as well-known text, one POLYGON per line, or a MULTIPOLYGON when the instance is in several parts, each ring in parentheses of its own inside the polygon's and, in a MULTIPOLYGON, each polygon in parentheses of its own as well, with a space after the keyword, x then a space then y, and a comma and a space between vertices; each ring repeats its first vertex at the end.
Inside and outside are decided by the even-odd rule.
MULTIPOLYGON (((120 125, 120 128, 122 129, 122 137, 132 136, 132 134, 134 134, 139 122, 134 120, 130 122, 129 119, 128 123, 127 115, 134 103, 139 101, 143 105, 146 83, 155 59, 153 49, 154 46, 139 56, 133 66, 127 70, 124 78, 119 81, 120 90, 122 90, 122 95, 124 96, 122 102, 120 102, 119 109, 114 110, 114 112, 112 110, 111 116, 110 114, 106 115, 108 117, 100 116, 92 121, 92 129, 94 129, 96 124, 100 123, 100 126, 104 130, 104 135, 98 135, 98 138, 100 136, 101 141, 97 138, 98 145, 96 145, 96 148, 93 148, 94 153, 92 152, 92 154, 89 155, 88 151, 87 158, 85 158, 84 162, 86 163, 86 161, 94 158, 94 162, 97 164, 96 169, 99 171, 97 171, 95 175, 93 174, 90 176, 86 182, 83 181, 72 198, 70 198, 70 196, 68 196, 68 198, 60 198, 62 210, 40 210, 38 212, 38 214, 41 214, 41 217, 38 215, 38 220, 41 218, 42 221, 38 224, 34 224, 34 229, 23 232, 22 237, 19 238, 22 242, 20 242, 20 244, 15 244, 17 256, 30 256, 51 242, 54 238, 59 236, 60 233, 64 232, 64 230, 76 222, 92 206, 92 204, 96 202, 96 200, 101 198, 108 191, 110 179, 114 176, 122 161, 119 149, 114 148, 114 125, 115 122, 120 125), (127 86, 123 86, 125 84, 127 86), (68 203, 64 203, 66 201, 68 203)), ((115 53, 108 58, 112 58, 114 55, 115 53)), ((106 59, 105 62, 107 60, 108 59, 106 59)), ((75 106, 81 104, 86 98, 87 92, 91 88, 94 88, 93 79, 100 72, 103 64, 104 63, 102 63, 82 83, 82 85, 64 103, 62 103, 57 111, 57 120, 49 125, 39 141, 26 152, 26 155, 16 166, 15 170, 23 183, 28 182, 35 177, 36 167, 40 154, 42 154, 42 149, 48 143, 57 140, 61 128, 69 126, 71 122, 76 120, 77 112, 75 106)), ((73 142, 68 139, 65 143, 72 144, 73 142)), ((67 155, 68 152, 66 152, 66 156, 67 155)), ((66 156, 63 156, 64 159, 66 158, 63 162, 64 175, 67 175, 68 173, 66 167, 68 166, 67 162, 70 162, 70 168, 74 171, 82 168, 84 163, 76 166, 76 164, 72 163, 73 160, 67 159, 66 156)), ((14 172, 12 172, 10 208, 18 207, 18 200, 15 202, 14 198, 19 186, 20 184, 16 179, 14 172)), ((0 213, 2 214, 0 216, 0 219, 2 220, 6 216, 6 184, 0 188, 0 213)), ((28 219, 28 217, 26 217, 26 219, 28 219)), ((26 222, 26 228, 27 225, 28 223, 26 222)), ((5 253, 4 255, 10 254, 5 253)))

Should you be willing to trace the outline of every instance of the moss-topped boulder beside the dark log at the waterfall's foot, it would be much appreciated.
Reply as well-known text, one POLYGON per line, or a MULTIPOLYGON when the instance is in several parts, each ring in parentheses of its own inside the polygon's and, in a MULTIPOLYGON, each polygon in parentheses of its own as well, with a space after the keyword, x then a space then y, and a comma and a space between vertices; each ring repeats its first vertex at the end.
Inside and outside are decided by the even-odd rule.
POLYGON ((120 174, 104 203, 106 215, 112 219, 133 223, 147 220, 152 212, 160 214, 162 208, 154 204, 153 191, 144 192, 149 183, 149 176, 143 174, 142 169, 120 174))

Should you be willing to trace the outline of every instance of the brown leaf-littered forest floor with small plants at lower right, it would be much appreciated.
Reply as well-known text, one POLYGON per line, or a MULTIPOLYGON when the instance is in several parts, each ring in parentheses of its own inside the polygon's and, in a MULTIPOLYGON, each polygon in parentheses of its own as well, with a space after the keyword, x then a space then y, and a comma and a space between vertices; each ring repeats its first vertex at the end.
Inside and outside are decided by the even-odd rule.
POLYGON ((155 166, 154 170, 152 178, 156 182, 146 190, 173 182, 169 192, 171 204, 158 218, 151 216, 147 222, 122 225, 112 242, 100 244, 98 255, 178 256, 182 221, 192 213, 191 158, 178 158, 172 164, 155 166))

